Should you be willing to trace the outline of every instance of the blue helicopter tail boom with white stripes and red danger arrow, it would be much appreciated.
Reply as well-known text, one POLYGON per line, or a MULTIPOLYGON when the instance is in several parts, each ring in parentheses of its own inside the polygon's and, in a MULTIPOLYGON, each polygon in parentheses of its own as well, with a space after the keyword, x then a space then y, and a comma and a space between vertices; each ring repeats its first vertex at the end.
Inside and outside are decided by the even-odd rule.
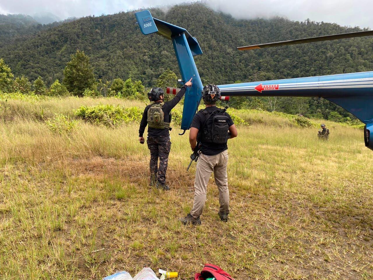
POLYGON ((373 150, 373 72, 327 75, 218 85, 224 96, 323 97, 346 109, 364 124, 365 144, 373 150))

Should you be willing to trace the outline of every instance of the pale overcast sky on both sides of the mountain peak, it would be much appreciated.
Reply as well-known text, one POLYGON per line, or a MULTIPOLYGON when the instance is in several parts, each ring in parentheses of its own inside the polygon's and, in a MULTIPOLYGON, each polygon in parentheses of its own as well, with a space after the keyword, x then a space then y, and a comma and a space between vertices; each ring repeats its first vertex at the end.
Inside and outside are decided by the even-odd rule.
MULTIPOLYGON (((182 2, 185 0, 0 0, 0 13, 31 16, 52 13, 65 19, 182 2)), ((284 16, 298 21, 310 18, 314 21, 373 28, 372 0, 208 0, 207 4, 236 18, 284 16)))

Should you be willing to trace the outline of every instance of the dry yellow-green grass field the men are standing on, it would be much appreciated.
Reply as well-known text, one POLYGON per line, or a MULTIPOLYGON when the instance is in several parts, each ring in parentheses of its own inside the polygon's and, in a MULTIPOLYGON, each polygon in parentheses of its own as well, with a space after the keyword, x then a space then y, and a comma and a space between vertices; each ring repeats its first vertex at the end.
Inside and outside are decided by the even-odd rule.
POLYGON ((250 126, 228 143, 229 223, 219 221, 211 178, 202 226, 185 227, 177 219, 193 200, 188 133, 171 132, 171 190, 162 192, 148 186, 137 123, 113 129, 80 121, 67 136, 44 122, 98 103, 145 106, 1 100, 1 279, 101 279, 144 266, 192 279, 207 262, 236 280, 373 278, 373 152, 361 130, 326 122, 324 142, 317 128, 235 111, 250 126))

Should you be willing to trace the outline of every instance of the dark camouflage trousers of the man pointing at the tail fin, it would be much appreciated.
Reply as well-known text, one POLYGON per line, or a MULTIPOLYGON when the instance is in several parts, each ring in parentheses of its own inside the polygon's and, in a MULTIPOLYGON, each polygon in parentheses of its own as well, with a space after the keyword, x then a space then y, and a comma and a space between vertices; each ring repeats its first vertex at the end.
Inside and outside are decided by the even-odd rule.
POLYGON ((171 149, 169 136, 150 137, 147 140, 150 150, 150 180, 158 180, 159 183, 166 183, 166 171, 168 155, 171 149), (158 167, 159 158, 159 167, 158 167))

